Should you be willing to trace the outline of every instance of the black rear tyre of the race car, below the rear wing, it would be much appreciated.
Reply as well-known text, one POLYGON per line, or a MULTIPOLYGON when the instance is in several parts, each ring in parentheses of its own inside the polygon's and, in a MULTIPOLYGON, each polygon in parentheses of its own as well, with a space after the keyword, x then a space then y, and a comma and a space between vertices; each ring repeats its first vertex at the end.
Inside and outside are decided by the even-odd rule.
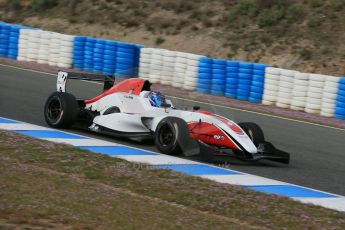
POLYGON ((44 106, 44 118, 54 128, 70 128, 77 120, 79 106, 70 93, 52 93, 44 106))

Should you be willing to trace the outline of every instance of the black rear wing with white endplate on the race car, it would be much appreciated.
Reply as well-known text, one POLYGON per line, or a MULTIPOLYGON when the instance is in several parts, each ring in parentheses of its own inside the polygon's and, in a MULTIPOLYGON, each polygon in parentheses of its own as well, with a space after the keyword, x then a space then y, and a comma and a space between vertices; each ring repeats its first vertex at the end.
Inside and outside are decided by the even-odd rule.
POLYGON ((102 75, 102 74, 92 74, 92 73, 90 74, 90 73, 59 71, 57 82, 56 82, 56 89, 58 92, 66 92, 67 79, 104 82, 104 86, 103 86, 104 91, 110 89, 114 85, 114 82, 115 82, 115 77, 113 76, 107 76, 107 75, 102 75))

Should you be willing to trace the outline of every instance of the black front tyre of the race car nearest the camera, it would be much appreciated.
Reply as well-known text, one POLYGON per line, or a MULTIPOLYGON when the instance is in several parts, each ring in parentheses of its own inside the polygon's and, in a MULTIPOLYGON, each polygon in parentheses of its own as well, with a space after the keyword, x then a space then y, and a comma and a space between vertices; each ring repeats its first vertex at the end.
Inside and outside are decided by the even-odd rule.
POLYGON ((166 117, 162 119, 157 125, 154 134, 157 149, 168 155, 181 154, 181 147, 190 138, 187 123, 177 117, 166 117))

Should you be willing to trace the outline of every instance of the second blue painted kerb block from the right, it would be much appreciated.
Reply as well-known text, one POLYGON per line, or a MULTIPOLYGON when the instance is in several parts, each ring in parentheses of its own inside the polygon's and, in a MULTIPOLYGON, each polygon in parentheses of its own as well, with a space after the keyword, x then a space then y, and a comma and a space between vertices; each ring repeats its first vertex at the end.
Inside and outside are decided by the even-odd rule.
POLYGON ((190 175, 236 175, 241 174, 232 170, 221 169, 204 164, 173 164, 173 165, 155 165, 162 169, 171 169, 174 171, 190 174, 190 175))

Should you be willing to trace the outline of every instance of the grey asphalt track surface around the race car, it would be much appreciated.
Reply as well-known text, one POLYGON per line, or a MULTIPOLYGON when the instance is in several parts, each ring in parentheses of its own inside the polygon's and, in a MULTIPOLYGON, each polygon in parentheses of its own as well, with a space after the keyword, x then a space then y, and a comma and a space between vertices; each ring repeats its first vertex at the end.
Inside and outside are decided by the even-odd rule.
MULTIPOLYGON (((68 82, 67 88, 80 98, 93 97, 102 91, 102 85, 75 80, 68 82)), ((0 65, 0 116, 47 126, 43 107, 46 98, 55 90, 56 77, 51 74, 0 65)), ((213 159, 213 164, 345 195, 345 130, 185 99, 173 98, 173 103, 178 108, 199 105, 203 110, 229 117, 236 122, 256 122, 263 128, 268 141, 291 153, 290 165, 269 161, 248 163, 224 157, 213 159)), ((90 132, 69 131, 156 151, 152 143, 141 144, 90 132)))

